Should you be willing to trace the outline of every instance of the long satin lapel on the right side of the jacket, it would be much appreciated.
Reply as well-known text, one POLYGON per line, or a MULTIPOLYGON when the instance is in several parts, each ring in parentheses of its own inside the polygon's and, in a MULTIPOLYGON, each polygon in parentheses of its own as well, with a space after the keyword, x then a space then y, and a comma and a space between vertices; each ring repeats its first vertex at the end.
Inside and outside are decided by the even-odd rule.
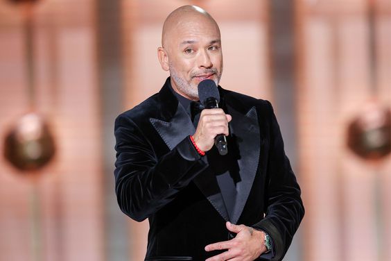
POLYGON ((241 112, 236 111, 229 105, 227 105, 227 110, 232 115, 232 121, 229 123, 230 131, 233 137, 235 137, 240 153, 238 158, 240 181, 236 183, 238 194, 236 196, 234 213, 232 214, 232 223, 236 224, 241 216, 257 173, 259 153, 261 151, 261 137, 255 107, 252 107, 246 115, 241 114, 241 112))

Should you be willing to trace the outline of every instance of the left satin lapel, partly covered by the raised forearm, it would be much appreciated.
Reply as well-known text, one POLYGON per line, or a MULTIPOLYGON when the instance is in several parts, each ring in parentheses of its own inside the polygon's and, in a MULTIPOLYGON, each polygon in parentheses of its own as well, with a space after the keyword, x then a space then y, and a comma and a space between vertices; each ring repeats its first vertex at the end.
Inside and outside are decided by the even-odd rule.
MULTIPOLYGON (((162 140, 164 140, 168 148, 172 150, 178 143, 184 140, 185 137, 194 134, 195 128, 189 115, 187 115, 186 110, 177 102, 175 96, 171 93, 171 90, 168 89, 168 86, 164 86, 160 94, 162 96, 162 106, 160 107, 162 110, 162 117, 164 118, 164 115, 173 115, 173 117, 167 119, 168 121, 155 118, 150 118, 149 121, 155 130, 157 130, 160 137, 162 137, 162 140), (167 90, 169 93, 166 92, 167 90), (177 102, 176 112, 167 111, 173 109, 172 104, 167 104, 167 101, 173 102, 172 98, 177 102)), ((203 160, 206 161, 205 158, 203 158, 203 160)), ((220 213, 223 219, 228 221, 228 212, 225 208, 223 196, 218 188, 216 178, 214 174, 211 173, 210 169, 207 168, 205 171, 202 171, 202 173, 194 178, 193 182, 197 185, 202 194, 207 197, 211 205, 220 213)))

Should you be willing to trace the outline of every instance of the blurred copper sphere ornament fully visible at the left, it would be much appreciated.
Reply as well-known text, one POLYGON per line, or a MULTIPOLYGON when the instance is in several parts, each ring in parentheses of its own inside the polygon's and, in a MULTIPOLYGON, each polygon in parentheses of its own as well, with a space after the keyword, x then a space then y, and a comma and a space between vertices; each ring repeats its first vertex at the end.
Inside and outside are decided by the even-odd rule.
POLYGON ((6 135, 4 155, 21 171, 44 167, 55 154, 53 136, 40 115, 28 113, 21 117, 6 135))

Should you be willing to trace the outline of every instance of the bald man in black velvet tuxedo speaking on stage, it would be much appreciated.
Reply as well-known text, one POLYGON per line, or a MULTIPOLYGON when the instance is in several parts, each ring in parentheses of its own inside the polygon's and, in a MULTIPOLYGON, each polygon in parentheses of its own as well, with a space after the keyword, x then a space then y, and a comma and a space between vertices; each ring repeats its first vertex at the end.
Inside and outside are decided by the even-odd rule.
POLYGON ((219 108, 192 110, 198 84, 223 71, 220 30, 201 8, 168 15, 157 56, 171 77, 115 123, 116 195, 149 220, 146 260, 281 260, 304 208, 270 103, 219 87, 219 108))

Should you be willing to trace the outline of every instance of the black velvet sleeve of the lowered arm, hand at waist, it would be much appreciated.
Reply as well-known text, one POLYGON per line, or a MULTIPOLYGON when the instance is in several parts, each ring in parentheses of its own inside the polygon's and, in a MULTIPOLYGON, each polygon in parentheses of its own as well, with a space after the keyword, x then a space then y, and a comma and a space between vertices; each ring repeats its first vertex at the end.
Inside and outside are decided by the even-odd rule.
POLYGON ((270 150, 266 176, 266 215, 253 227, 263 230, 272 237, 275 256, 272 260, 284 258, 293 235, 304 217, 304 205, 300 197, 300 187, 290 162, 284 152, 277 119, 268 102, 270 110, 270 150))

